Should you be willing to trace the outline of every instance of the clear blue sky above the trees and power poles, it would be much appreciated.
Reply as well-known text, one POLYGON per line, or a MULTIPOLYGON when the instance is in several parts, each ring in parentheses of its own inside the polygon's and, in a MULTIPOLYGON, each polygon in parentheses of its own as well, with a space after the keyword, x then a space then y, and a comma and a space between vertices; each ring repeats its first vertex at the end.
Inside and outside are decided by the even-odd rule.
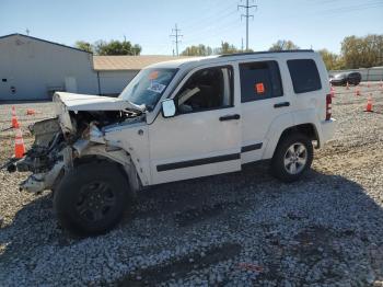
MULTIPOLYGON (((246 0, 242 0, 242 4, 246 0)), ((249 47, 268 49, 278 39, 301 48, 339 53, 347 35, 383 33, 383 0, 255 0, 249 22, 249 47)), ((124 39, 142 46, 142 54, 171 55, 170 34, 177 23, 183 34, 179 49, 227 41, 241 47, 245 21, 241 0, 1 0, 0 35, 11 33, 72 46, 76 41, 124 39)))

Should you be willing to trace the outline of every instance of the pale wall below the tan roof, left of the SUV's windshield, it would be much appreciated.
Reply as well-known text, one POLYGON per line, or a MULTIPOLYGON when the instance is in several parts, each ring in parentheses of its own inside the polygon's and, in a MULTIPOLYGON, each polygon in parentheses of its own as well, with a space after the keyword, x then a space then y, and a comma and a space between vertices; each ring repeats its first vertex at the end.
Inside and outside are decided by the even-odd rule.
POLYGON ((100 94, 117 95, 138 73, 138 70, 129 71, 98 71, 100 94))

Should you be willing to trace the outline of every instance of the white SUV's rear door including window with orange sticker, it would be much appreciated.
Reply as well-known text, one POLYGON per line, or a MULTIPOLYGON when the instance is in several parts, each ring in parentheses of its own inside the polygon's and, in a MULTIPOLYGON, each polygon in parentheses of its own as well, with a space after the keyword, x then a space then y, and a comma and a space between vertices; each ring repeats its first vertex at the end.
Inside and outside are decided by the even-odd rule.
POLYGON ((241 61, 242 162, 263 158, 272 120, 290 113, 292 99, 282 83, 286 66, 277 58, 241 61), (283 71, 283 72, 281 72, 283 71))

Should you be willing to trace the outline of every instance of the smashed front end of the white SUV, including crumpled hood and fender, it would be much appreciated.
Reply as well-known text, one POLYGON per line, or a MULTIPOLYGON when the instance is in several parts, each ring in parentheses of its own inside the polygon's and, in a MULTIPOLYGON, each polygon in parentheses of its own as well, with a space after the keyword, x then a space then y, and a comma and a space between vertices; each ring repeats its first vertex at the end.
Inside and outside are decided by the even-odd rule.
MULTIPOLYGON (((23 159, 8 163, 9 172, 32 172, 20 184, 20 190, 32 193, 55 190, 76 162, 88 156, 120 163, 129 177, 137 174, 129 154, 105 140, 102 129, 108 125, 142 120, 142 113, 128 111, 127 106, 120 108, 118 101, 102 96, 56 93, 54 101, 57 117, 31 126, 35 137, 32 148, 23 159), (76 104, 79 99, 82 102, 76 104), (106 103, 102 103, 103 100, 106 103)), ((136 180, 130 181, 132 190, 138 190, 139 180, 131 177, 136 180)))

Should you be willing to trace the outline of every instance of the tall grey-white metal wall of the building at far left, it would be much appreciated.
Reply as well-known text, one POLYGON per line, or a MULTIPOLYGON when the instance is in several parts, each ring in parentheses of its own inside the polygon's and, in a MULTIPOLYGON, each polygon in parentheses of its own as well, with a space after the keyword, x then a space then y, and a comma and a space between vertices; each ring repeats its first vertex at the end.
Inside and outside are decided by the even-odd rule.
POLYGON ((0 101, 47 100, 49 90, 68 87, 97 93, 91 54, 23 35, 0 38, 0 101))

